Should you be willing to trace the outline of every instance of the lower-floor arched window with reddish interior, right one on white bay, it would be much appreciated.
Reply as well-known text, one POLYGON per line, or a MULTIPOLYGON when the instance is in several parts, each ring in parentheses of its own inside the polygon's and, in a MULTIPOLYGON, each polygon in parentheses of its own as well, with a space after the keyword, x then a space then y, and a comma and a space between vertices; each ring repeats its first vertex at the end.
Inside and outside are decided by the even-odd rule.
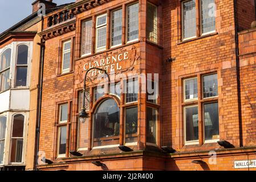
POLYGON ((13 117, 13 130, 11 132, 11 163, 22 162, 24 119, 22 114, 16 114, 13 117))

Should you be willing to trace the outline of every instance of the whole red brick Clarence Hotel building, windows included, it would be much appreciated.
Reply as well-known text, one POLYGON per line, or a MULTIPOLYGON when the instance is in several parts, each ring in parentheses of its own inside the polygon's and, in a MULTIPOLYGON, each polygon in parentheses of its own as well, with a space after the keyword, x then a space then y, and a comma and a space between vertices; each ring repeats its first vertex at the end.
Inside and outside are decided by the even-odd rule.
POLYGON ((253 20, 253 0, 84 0, 44 16, 39 162, 51 164, 38 169, 255 169, 253 20), (81 122, 95 67, 115 80, 89 72, 81 122))

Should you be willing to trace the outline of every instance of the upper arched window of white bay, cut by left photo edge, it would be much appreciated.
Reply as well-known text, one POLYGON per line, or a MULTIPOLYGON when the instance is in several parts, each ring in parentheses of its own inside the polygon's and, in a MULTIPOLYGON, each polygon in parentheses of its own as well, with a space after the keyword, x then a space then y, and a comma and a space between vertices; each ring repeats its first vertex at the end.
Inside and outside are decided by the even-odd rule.
POLYGON ((3 51, 0 59, 0 92, 3 92, 10 88, 11 49, 3 51))

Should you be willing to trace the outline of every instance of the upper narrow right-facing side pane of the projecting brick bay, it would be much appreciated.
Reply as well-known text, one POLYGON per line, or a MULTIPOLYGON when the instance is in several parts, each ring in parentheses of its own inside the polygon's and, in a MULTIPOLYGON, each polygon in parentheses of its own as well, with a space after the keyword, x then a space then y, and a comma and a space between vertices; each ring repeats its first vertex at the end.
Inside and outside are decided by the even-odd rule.
POLYGON ((157 7, 147 3, 147 39, 157 43, 157 7))

